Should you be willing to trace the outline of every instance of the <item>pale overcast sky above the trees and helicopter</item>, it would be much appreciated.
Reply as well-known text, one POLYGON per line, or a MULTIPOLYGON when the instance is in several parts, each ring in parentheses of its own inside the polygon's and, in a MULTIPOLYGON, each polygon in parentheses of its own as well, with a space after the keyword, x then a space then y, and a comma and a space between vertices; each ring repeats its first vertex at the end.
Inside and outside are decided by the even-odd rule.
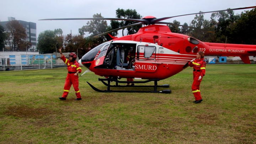
MULTIPOLYGON (((61 28, 63 34, 79 34, 78 29, 86 25, 86 20, 69 21, 38 21, 46 18, 90 18, 101 13, 105 18, 115 18, 116 10, 132 9, 141 16, 155 16, 156 18, 196 13, 199 11, 225 10, 255 6, 256 0, 1 0, 0 21, 7 21, 8 17, 16 20, 34 22, 39 33, 61 28)), ((234 11, 241 13, 244 10, 234 11)), ((193 16, 175 17, 164 22, 177 20, 190 23, 193 16)), ((204 15, 205 19, 210 14, 204 15)), ((107 21, 108 25, 110 21, 107 21)))

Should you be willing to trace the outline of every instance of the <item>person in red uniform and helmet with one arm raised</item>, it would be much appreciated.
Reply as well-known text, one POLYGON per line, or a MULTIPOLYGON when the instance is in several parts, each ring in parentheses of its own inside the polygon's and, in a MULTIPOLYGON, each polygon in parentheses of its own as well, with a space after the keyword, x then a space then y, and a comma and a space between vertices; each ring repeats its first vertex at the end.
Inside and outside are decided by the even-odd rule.
POLYGON ((62 94, 62 97, 59 99, 66 100, 66 97, 68 96, 69 89, 71 85, 73 84, 73 87, 75 89, 76 99, 75 100, 81 100, 81 94, 80 90, 78 88, 79 82, 78 82, 78 73, 82 72, 82 69, 79 65, 79 63, 76 61, 76 54, 71 52, 69 54, 69 60, 66 59, 66 57, 62 54, 61 51, 62 48, 59 49, 60 52, 60 59, 62 59, 68 68, 68 75, 66 77, 65 85, 64 85, 64 92, 62 94))

